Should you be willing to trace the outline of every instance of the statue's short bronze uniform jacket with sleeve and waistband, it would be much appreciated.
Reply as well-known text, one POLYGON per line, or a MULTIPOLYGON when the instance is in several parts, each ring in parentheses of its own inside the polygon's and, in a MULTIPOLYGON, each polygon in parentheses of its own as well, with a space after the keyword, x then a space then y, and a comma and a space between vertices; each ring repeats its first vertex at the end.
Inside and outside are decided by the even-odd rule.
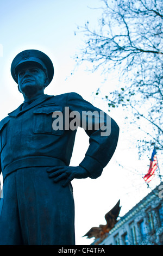
MULTIPOLYGON (((22 109, 21 104, 15 111, 8 114, 0 122, 0 153, 3 180, 15 170, 38 166, 68 166, 70 164, 76 129, 54 130, 52 125, 56 118, 53 113, 62 113, 64 124, 71 121, 65 113, 68 107, 69 114, 73 111, 80 113, 82 126, 83 111, 97 111, 77 93, 66 93, 57 96, 42 95, 39 99, 22 109), (68 118, 65 119, 65 118, 68 118)), ((106 125, 105 114, 105 125, 106 125)), ((114 154, 118 140, 118 126, 113 119, 109 136, 101 136, 100 129, 88 129, 85 132, 90 137, 89 148, 80 166, 85 168, 90 178, 101 175, 103 168, 114 154)), ((95 120, 94 120, 95 123, 95 120)))

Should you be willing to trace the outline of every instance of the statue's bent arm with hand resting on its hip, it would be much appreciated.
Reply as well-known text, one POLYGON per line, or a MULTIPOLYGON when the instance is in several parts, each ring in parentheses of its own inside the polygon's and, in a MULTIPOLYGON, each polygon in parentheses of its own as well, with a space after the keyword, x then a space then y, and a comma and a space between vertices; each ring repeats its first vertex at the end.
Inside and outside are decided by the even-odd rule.
POLYGON ((74 178, 96 179, 100 176, 115 152, 119 134, 116 122, 79 94, 68 94, 67 106, 70 108, 71 117, 76 115, 76 120, 78 117, 78 125, 83 127, 90 137, 90 145, 79 166, 52 167, 47 170, 49 178, 54 178, 54 182, 66 179, 65 186, 74 178))

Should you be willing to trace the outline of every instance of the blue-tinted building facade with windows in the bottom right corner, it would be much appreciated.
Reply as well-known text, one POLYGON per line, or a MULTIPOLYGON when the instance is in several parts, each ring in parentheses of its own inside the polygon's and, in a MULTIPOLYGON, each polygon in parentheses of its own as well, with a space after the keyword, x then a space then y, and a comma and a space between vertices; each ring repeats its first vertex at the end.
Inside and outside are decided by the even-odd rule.
POLYGON ((121 217, 99 245, 163 245, 163 182, 121 217))

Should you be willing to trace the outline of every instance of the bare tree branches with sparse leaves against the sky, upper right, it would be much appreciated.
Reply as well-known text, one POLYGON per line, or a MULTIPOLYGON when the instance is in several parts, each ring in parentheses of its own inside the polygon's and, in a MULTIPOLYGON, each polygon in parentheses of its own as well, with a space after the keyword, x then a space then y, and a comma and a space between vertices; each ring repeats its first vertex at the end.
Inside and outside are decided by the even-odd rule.
POLYGON ((89 21, 79 27, 85 34, 85 46, 76 56, 77 64, 86 60, 92 64, 91 71, 99 69, 106 78, 118 72, 120 83, 105 95, 109 108, 131 110, 130 123, 143 132, 138 140, 140 153, 151 149, 151 144, 161 150, 162 0, 101 2, 98 27, 91 29, 89 21))

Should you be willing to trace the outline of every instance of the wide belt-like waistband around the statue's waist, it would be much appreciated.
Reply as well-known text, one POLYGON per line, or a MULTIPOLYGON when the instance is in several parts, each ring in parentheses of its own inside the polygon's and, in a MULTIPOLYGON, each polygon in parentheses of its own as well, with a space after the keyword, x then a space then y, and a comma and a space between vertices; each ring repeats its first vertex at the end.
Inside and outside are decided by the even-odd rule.
POLYGON ((60 159, 48 156, 32 156, 16 160, 4 168, 3 182, 7 176, 16 170, 28 167, 53 167, 53 166, 66 166, 66 163, 60 159))

